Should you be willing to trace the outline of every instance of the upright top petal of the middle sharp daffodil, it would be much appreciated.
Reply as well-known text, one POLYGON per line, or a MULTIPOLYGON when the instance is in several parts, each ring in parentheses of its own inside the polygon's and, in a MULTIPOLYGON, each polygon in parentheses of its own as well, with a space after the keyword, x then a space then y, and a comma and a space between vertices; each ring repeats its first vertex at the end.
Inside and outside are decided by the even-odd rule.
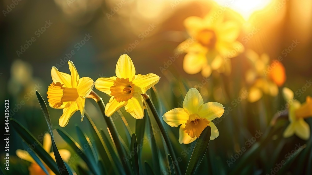
POLYGON ((119 57, 116 65, 116 76, 119 78, 129 78, 132 81, 135 76, 135 68, 131 58, 127 54, 119 57))

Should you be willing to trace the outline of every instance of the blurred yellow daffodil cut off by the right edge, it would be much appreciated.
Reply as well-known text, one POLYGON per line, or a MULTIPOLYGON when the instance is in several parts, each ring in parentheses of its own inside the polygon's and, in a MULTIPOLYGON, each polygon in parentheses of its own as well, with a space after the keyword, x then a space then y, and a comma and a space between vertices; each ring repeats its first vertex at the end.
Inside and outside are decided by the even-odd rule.
POLYGON ((307 97, 306 102, 302 105, 294 99, 294 93, 289 88, 283 88, 283 97, 290 105, 288 109, 288 118, 290 124, 285 129, 283 136, 288 138, 296 135, 303 140, 310 138, 310 126, 304 118, 312 116, 312 98, 307 97))

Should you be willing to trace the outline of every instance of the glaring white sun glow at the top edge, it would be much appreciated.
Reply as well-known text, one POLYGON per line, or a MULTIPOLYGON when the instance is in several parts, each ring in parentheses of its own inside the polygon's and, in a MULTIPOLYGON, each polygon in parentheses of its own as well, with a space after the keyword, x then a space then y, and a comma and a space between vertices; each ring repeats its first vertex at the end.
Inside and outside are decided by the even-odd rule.
POLYGON ((265 8, 272 0, 215 0, 219 5, 232 8, 240 13, 245 20, 255 11, 265 8))

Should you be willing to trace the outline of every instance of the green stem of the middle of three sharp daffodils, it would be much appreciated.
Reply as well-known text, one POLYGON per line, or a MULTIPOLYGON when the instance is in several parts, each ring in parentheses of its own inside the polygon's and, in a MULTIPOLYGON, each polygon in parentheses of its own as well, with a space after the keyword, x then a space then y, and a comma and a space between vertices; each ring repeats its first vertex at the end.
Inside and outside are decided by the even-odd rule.
MULTIPOLYGON (((176 157, 176 155, 174 153, 174 150, 173 150, 173 146, 172 146, 172 144, 170 142, 169 136, 166 133, 165 128, 163 127, 163 124, 160 121, 160 117, 159 117, 159 115, 158 115, 158 113, 156 111, 156 108, 155 108, 153 102, 149 98, 149 95, 147 95, 146 93, 142 94, 142 96, 143 96, 145 102, 148 104, 150 110, 152 111, 152 113, 154 115, 156 123, 157 123, 157 125, 158 125, 158 127, 160 129, 160 133, 162 134, 163 139, 165 140, 165 143, 166 143, 166 145, 168 147, 169 154, 170 154, 170 156, 172 156, 173 162, 178 162, 177 157, 176 157)), ((178 174, 182 174, 178 164, 176 165, 176 169, 178 170, 178 174)))

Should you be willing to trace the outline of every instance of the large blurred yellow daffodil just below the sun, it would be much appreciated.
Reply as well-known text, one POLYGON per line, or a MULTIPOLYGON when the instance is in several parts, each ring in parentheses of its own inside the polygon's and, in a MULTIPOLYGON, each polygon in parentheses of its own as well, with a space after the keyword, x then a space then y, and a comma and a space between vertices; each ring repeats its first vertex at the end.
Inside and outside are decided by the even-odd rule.
POLYGON ((201 72, 209 77, 212 70, 219 73, 231 72, 229 58, 244 51, 241 42, 236 41, 240 26, 234 20, 224 21, 223 14, 215 17, 218 8, 212 9, 204 18, 192 16, 184 20, 184 26, 190 36, 178 47, 186 53, 183 69, 188 74, 201 72))

